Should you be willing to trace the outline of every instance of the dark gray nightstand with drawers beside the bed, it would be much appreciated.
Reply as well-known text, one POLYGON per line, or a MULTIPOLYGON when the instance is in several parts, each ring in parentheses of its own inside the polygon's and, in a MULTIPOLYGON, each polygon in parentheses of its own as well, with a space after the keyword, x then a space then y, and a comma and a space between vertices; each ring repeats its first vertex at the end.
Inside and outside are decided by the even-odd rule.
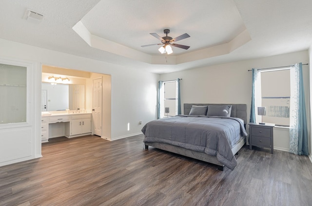
POLYGON ((260 148, 270 148, 273 154, 273 128, 275 124, 265 123, 249 123, 249 149, 253 146, 260 148))

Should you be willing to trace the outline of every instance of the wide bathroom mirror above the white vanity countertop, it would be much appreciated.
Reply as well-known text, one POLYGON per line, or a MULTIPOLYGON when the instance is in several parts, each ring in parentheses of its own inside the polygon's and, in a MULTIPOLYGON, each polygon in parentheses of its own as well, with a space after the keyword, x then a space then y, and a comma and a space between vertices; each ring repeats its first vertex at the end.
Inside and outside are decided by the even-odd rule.
POLYGON ((42 82, 41 111, 65 111, 85 109, 85 86, 42 82))

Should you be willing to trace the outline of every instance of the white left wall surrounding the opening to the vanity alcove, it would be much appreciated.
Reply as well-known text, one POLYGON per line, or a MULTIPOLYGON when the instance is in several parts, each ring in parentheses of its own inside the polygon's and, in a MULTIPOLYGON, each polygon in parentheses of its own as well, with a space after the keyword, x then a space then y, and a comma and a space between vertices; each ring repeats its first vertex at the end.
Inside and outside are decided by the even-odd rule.
MULTIPOLYGON (((156 90, 159 75, 126 68, 115 64, 55 52, 39 47, 21 44, 14 41, 0 39, 0 58, 19 58, 38 63, 39 65, 53 65, 61 68, 89 71, 112 76, 112 139, 118 139, 132 134, 141 133, 143 125, 155 119, 156 90), (142 121, 143 125, 138 122, 142 121), (130 131, 127 124, 130 123, 130 131)), ((36 67, 35 74, 41 77, 41 67, 36 67)), ((41 78, 36 79, 41 85, 41 78)), ((36 88, 37 103, 40 105, 41 86, 36 88), (37 89, 38 88, 38 89, 37 89)), ((40 111, 36 112, 36 126, 40 129, 40 111)), ((40 133, 36 134, 38 138, 40 133)), ((37 139, 37 141, 40 141, 37 139)), ((37 150, 41 149, 40 142, 36 143, 37 150)), ((34 145, 35 147, 35 145, 34 145)))

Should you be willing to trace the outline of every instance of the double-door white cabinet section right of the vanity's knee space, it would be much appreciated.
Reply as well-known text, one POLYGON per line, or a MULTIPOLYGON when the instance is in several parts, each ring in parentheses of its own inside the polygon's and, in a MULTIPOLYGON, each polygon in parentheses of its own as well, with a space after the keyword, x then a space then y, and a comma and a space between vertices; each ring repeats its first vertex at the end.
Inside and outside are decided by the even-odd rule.
POLYGON ((77 114, 70 122, 70 137, 91 132, 91 114, 77 114))

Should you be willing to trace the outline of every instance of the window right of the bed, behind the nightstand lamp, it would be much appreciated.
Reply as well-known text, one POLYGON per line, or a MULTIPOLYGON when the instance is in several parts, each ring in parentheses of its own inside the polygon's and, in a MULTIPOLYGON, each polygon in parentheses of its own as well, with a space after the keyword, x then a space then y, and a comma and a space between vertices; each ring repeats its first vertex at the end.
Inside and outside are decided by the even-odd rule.
POLYGON ((290 69, 261 71, 261 106, 266 107, 262 121, 277 126, 290 125, 290 69))

